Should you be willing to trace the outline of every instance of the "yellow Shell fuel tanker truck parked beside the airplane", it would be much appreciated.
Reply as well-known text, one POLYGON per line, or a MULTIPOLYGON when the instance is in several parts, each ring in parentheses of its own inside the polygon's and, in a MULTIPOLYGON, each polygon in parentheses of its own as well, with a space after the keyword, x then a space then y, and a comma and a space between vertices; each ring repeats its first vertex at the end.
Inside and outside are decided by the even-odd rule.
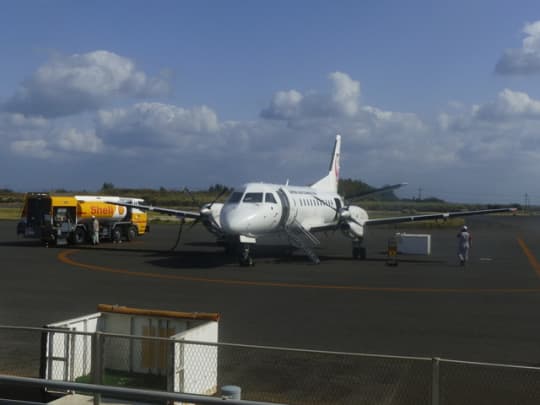
POLYGON ((131 241, 149 231, 145 212, 105 201, 144 202, 129 197, 27 193, 17 234, 41 239, 47 246, 81 244, 91 239, 93 217, 99 221, 100 240, 131 241))

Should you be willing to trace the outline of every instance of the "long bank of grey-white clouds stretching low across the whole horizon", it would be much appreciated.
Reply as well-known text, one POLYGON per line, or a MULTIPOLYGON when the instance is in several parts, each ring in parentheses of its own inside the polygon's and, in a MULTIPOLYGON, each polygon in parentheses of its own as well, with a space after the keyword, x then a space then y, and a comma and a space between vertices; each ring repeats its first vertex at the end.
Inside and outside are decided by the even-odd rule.
POLYGON ((101 109, 91 122, 0 113, 0 138, 7 146, 0 151, 0 167, 9 170, 9 159, 29 157, 37 170, 55 165, 58 181, 72 178, 79 188, 92 187, 96 178, 97 186, 112 181, 126 187, 287 179, 308 184, 325 173, 333 136, 341 133, 342 174, 373 185, 417 181, 426 188, 429 182, 489 188, 507 172, 540 170, 540 101, 526 93, 505 89, 478 105, 454 102, 424 121, 360 103, 358 81, 340 72, 329 77, 328 94, 278 91, 263 119, 253 121, 223 122, 204 105, 156 102, 101 109))

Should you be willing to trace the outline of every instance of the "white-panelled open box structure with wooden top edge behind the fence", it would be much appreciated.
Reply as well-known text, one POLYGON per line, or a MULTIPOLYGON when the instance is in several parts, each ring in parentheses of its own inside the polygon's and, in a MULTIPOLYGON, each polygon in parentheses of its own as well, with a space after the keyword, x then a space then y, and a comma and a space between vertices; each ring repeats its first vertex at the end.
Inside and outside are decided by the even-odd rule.
POLYGON ((211 345, 218 342, 217 318, 173 311, 130 313, 122 312, 123 308, 116 313, 102 311, 47 325, 42 377, 77 381, 89 376, 96 372, 96 351, 101 350, 100 373, 107 369, 160 375, 167 377, 168 390, 174 392, 217 392, 218 351, 211 345), (97 332, 106 337, 99 349, 97 332), (185 341, 201 345, 186 345, 185 341))

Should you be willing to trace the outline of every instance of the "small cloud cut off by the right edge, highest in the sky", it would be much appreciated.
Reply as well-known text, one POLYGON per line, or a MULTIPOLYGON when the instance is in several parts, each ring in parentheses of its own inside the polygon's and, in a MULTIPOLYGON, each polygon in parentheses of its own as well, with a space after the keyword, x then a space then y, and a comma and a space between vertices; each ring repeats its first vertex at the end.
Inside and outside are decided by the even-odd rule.
POLYGON ((540 73, 540 21, 525 24, 521 48, 507 49, 497 62, 499 74, 522 75, 540 73))

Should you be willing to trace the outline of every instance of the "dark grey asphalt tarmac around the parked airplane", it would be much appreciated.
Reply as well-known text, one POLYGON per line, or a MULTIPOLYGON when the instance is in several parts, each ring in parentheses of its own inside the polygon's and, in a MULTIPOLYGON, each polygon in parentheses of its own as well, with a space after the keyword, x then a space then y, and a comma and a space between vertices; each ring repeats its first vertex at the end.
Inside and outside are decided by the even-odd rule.
MULTIPOLYGON (((175 225, 152 225, 129 243, 45 248, 1 221, 0 324, 43 326, 106 303, 218 312, 222 342, 540 365, 540 218, 466 223, 466 267, 456 255, 459 229, 443 226, 370 228, 364 261, 352 259, 339 232, 318 235, 319 265, 261 246, 246 268, 202 226, 186 226, 175 251, 175 225), (431 255, 400 255, 388 266, 396 232, 431 234, 431 255)), ((24 364, 25 351, 0 360, 24 364)))

